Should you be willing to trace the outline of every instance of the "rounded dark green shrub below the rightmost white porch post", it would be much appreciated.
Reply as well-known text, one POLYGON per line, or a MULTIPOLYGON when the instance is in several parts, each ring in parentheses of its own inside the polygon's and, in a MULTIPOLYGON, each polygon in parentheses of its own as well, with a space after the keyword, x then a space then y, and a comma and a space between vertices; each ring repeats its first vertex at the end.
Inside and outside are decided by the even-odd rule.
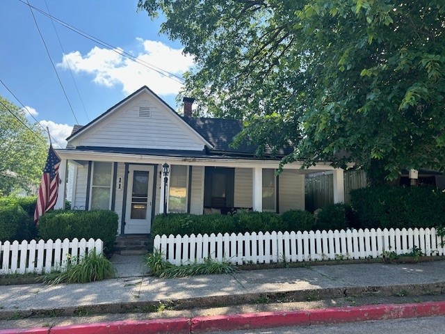
POLYGON ((353 216, 352 207, 347 204, 328 204, 316 216, 316 230, 346 230, 353 216))

